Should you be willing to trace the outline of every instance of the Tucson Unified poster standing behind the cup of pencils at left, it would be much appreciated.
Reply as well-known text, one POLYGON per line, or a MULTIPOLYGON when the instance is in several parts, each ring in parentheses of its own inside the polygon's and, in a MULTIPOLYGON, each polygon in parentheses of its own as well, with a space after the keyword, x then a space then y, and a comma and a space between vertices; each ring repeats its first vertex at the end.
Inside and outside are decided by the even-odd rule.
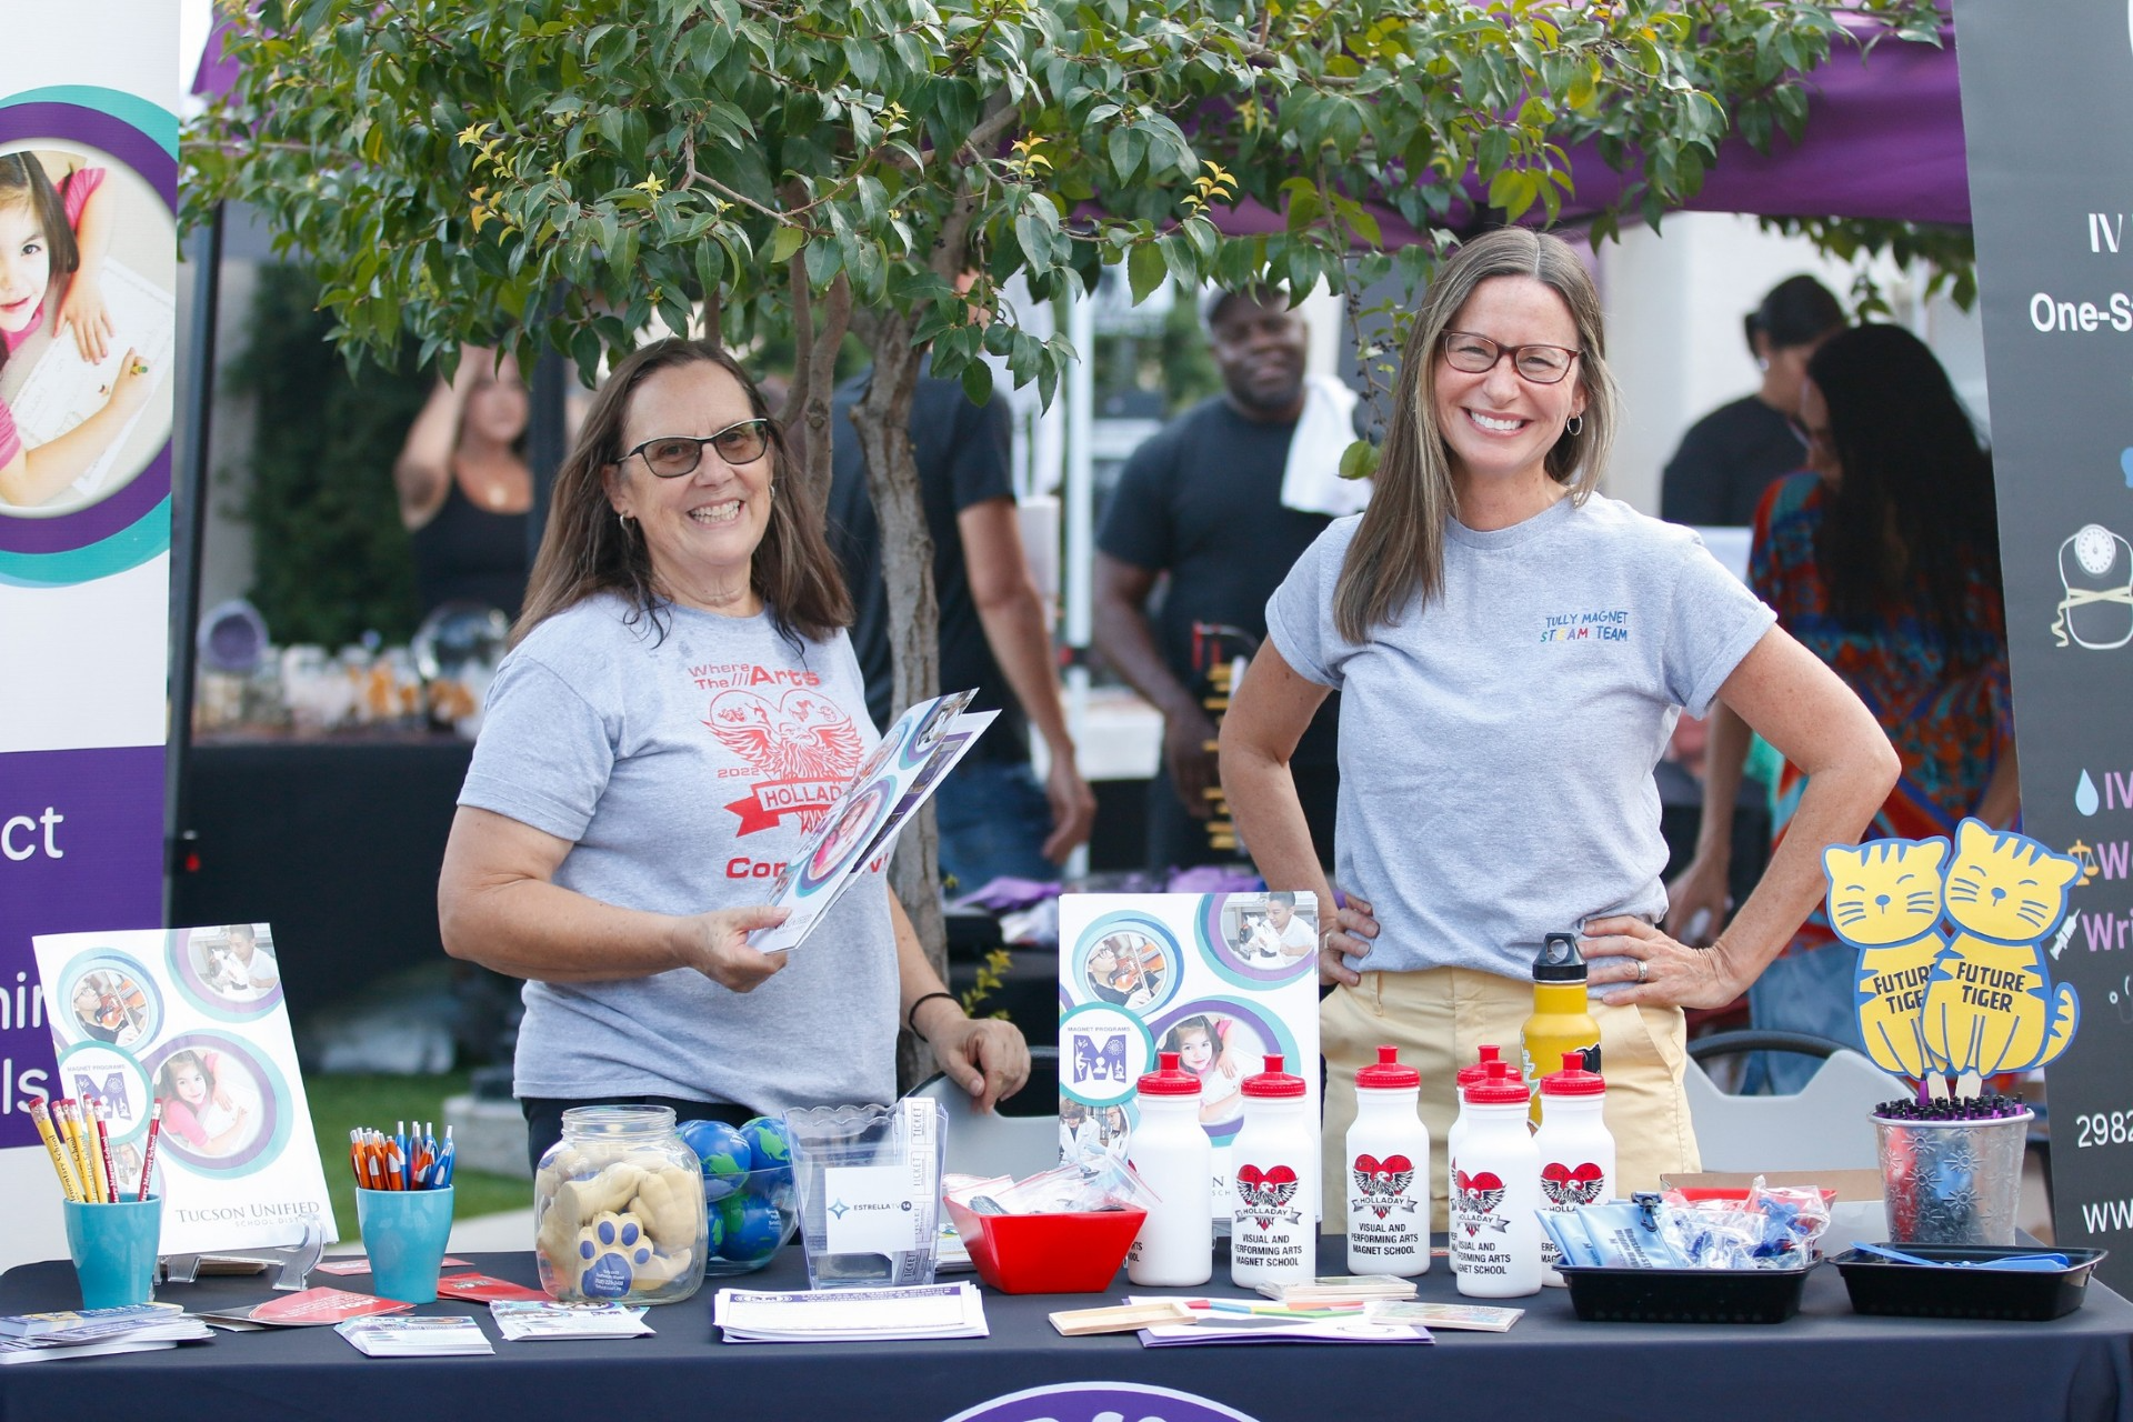
POLYGON ((162 1254, 337 1239, 271 925, 38 934, 36 968, 51 1094, 109 1113, 122 1190, 154 1170, 162 1254))

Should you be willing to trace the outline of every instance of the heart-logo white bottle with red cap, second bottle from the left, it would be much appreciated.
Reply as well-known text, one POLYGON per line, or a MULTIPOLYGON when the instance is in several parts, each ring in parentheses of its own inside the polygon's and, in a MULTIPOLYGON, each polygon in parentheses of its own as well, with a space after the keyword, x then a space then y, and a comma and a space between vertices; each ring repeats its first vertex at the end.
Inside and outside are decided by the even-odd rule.
POLYGON ((1318 1168, 1318 1121, 1310 1119, 1303 1077, 1267 1070, 1246 1077, 1244 1126, 1229 1147, 1229 1281, 1310 1283, 1318 1273, 1318 1222, 1310 1177, 1318 1168))

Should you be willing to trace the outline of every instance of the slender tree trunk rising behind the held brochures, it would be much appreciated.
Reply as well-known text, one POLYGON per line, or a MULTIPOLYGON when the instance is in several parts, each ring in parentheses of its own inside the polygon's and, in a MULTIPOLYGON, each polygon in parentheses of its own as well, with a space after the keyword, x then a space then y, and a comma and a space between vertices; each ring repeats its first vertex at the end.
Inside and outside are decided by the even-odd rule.
MULTIPOLYGON (((919 495, 919 467, 911 448, 911 399, 919 386, 924 352, 913 345, 917 322, 896 313, 855 313, 862 339, 875 352, 875 375, 851 409, 866 486, 881 524, 881 580, 889 595, 889 652, 896 665, 898 712, 941 689, 941 605, 932 586, 932 537, 919 495)), ((932 804, 904 825, 889 863, 889 887, 911 915, 926 959, 947 981, 947 930, 941 917, 941 868, 932 804)), ((898 1083, 909 1087, 930 1064, 915 1038, 898 1043, 898 1083)))

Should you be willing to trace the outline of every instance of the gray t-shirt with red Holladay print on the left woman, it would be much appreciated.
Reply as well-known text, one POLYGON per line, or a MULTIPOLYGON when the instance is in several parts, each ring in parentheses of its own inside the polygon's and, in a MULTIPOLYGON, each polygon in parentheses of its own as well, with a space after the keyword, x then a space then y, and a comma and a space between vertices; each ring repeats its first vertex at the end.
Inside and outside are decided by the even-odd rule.
MULTIPOLYGON (((570 840, 555 883, 693 915, 768 902, 879 736, 851 642, 796 646, 770 616, 616 597, 561 612, 503 659, 459 804, 570 840)), ((853 885, 776 976, 734 993, 693 970, 527 983, 518 1096, 678 1096, 787 1106, 896 1096, 887 889, 853 885)))

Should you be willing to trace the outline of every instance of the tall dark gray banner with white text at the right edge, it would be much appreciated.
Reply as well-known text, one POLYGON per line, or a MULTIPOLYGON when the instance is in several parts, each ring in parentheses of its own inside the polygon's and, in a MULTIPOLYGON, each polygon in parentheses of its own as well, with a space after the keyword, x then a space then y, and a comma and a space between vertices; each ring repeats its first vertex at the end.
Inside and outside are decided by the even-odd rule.
POLYGON ((2133 1288, 2133 92, 2129 0, 1958 0, 2022 827, 2082 863, 2050 972, 2063 1245, 2133 1288))

